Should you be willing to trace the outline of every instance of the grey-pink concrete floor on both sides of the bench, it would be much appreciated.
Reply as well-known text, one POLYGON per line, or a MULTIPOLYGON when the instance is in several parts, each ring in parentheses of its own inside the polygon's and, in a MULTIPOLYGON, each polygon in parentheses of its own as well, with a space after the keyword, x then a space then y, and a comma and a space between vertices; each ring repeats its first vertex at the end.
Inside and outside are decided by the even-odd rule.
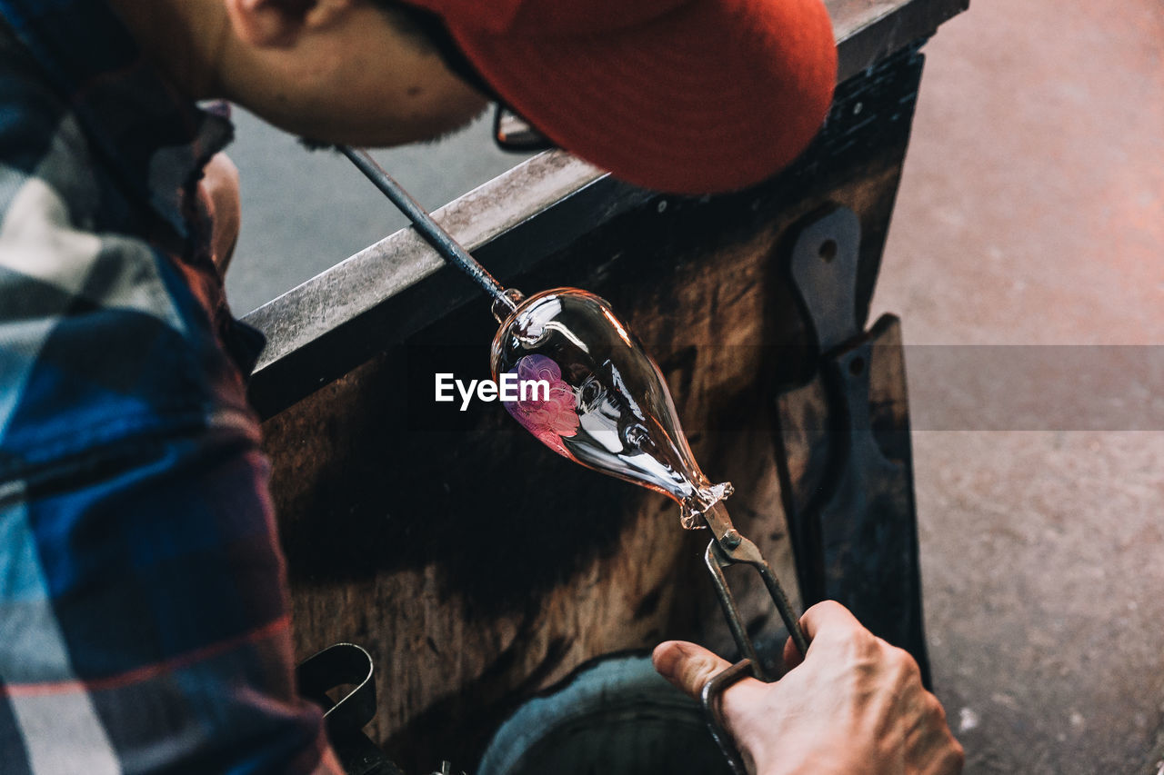
MULTIPOLYGON (((1164 6, 973 0, 925 50, 875 307, 937 690, 967 773, 1164 773, 1164 6)), ((435 207, 514 163, 487 131, 382 158, 435 207)), ((248 116, 234 156, 237 312, 400 226, 248 116)))

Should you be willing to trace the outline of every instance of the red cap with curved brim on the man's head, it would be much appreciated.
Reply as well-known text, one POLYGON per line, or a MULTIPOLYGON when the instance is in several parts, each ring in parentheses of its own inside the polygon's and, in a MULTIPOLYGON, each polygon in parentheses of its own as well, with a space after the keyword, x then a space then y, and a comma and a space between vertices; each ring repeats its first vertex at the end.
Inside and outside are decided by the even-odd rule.
POLYGON ((648 189, 712 193, 792 162, 832 100, 821 0, 410 0, 518 113, 648 189))

